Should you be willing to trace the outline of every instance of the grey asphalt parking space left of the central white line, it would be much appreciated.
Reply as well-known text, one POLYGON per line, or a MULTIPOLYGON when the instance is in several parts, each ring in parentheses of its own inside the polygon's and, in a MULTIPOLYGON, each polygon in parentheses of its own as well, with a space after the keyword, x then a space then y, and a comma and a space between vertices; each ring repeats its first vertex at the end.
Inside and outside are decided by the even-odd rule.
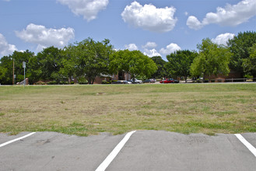
POLYGON ((95 170, 123 137, 37 132, 0 148, 0 170, 95 170))

